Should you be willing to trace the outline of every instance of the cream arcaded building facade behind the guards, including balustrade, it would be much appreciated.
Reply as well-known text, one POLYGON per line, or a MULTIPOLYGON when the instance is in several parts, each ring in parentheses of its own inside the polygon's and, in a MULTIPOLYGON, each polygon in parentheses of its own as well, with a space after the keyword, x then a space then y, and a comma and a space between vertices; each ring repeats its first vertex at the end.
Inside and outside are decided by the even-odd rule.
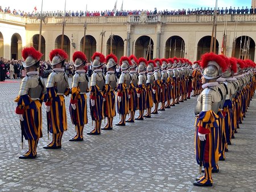
MULTIPOLYGON (((42 26, 41 52, 48 60, 49 52, 60 48, 63 17, 48 16, 42 26)), ((134 54, 137 57, 185 57, 199 60, 209 52, 213 15, 128 15, 65 17, 64 49, 72 59, 82 51, 90 59, 95 51, 104 55, 134 54), (86 30, 85 30, 86 27, 86 30), (111 46, 112 45, 112 46, 111 46)), ((221 53, 226 23, 226 55, 236 57, 245 52, 255 60, 256 14, 217 15, 216 52, 221 53)), ((0 12, 0 56, 21 59, 23 47, 38 48, 40 20, 0 12)))

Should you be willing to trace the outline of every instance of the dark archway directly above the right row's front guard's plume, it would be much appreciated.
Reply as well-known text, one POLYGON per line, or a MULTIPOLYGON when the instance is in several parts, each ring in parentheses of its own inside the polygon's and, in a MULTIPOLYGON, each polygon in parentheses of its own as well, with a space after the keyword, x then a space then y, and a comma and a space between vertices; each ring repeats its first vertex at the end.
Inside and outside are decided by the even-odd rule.
MULTIPOLYGON (((201 59, 201 55, 210 52, 211 36, 202 37, 197 43, 197 60, 201 59)), ((216 39, 216 54, 218 54, 218 40, 216 39)))

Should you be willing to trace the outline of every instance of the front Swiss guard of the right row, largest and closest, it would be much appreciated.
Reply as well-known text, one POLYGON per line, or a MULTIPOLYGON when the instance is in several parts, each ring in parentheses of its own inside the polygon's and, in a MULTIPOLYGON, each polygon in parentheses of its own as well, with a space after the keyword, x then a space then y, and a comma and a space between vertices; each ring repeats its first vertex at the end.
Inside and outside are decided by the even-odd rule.
MULTIPOLYGON (((218 82, 222 71, 226 70, 225 60, 214 53, 202 56, 201 68, 203 91, 197 98, 195 108, 196 118, 196 160, 204 165, 204 176, 196 178, 195 186, 212 186, 212 168, 218 161, 218 123, 217 112, 221 95, 218 92, 218 82)), ((201 170, 201 169, 200 169, 201 170)))

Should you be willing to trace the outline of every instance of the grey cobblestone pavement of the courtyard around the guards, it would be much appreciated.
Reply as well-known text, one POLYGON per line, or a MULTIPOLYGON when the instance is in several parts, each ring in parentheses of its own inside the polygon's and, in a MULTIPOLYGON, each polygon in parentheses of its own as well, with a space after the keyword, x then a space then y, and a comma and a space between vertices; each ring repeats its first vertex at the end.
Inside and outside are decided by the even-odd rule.
MULTIPOLYGON (((256 191, 255 97, 226 161, 219 162, 220 173, 213 174, 213 187, 199 188, 192 185, 199 172, 194 155, 195 97, 151 119, 114 126, 100 136, 85 134, 79 143, 68 141, 75 136, 68 113, 63 148, 52 151, 43 149, 49 142, 43 105, 38 158, 20 160, 27 149, 27 143, 21 149, 14 114, 20 80, 9 81, 0 84, 0 191, 256 191)), ((116 116, 113 124, 118 121, 116 116)), ((89 117, 84 133, 90 130, 89 117)))

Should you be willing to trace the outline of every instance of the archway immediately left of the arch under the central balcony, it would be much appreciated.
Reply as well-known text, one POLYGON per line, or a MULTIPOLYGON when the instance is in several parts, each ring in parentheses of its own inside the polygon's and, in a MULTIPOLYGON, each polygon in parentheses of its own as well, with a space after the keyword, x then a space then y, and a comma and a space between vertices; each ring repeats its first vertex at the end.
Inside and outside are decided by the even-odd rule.
MULTIPOLYGON (((111 39, 109 37, 108 41, 107 41, 107 48, 106 48, 106 52, 107 55, 110 54, 111 51, 111 39)), ((114 55, 117 56, 117 58, 121 58, 123 56, 123 47, 124 43, 123 43, 123 39, 122 37, 118 36, 118 35, 113 35, 113 40, 112 40, 112 53, 114 55)))

